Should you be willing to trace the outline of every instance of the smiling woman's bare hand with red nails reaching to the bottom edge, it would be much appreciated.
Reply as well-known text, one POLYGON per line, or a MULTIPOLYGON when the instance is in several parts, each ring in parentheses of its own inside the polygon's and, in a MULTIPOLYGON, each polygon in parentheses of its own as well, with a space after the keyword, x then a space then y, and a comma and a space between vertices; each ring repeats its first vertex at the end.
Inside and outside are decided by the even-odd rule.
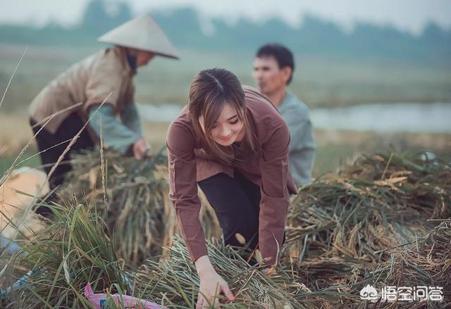
POLYGON ((217 305, 219 299, 214 297, 223 293, 230 301, 235 300, 227 282, 214 270, 208 256, 202 256, 195 262, 200 286, 196 309, 209 308, 209 303, 217 305), (208 300, 208 301, 207 301, 208 300))

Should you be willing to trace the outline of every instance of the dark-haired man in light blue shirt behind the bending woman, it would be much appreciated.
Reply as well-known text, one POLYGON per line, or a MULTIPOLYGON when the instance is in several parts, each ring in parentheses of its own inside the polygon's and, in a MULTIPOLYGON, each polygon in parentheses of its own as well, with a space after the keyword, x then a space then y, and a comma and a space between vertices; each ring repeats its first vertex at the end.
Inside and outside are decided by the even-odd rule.
POLYGON ((309 108, 287 89, 295 70, 292 53, 280 44, 266 44, 257 51, 253 77, 260 92, 278 108, 290 131, 290 172, 297 184, 311 182, 316 144, 309 108))

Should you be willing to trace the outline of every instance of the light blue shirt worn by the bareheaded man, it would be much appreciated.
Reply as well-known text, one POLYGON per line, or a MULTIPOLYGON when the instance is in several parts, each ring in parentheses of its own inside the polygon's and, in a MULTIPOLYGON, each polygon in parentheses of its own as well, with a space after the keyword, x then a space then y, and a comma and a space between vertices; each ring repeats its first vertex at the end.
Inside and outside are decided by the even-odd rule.
POLYGON ((309 108, 287 90, 278 110, 290 131, 290 172, 297 184, 309 184, 316 154, 309 108))

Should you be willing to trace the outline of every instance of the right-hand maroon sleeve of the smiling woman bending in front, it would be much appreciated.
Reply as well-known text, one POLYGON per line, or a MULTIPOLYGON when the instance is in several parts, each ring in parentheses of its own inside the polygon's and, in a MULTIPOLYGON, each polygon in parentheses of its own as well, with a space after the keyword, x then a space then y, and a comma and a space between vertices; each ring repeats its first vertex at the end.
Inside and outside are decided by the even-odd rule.
POLYGON ((288 145, 290 134, 280 121, 262 145, 259 248, 266 264, 276 263, 288 212, 288 145))

